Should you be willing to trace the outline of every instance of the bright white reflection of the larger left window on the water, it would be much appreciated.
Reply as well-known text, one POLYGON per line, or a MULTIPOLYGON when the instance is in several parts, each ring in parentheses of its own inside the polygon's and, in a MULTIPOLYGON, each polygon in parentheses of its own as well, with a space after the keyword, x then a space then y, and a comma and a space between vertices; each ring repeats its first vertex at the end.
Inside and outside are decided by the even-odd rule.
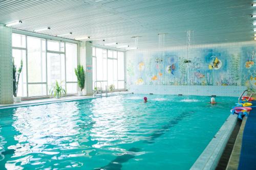
MULTIPOLYGON (((59 155, 60 152, 56 150, 78 148, 79 143, 73 138, 74 135, 80 133, 77 125, 80 121, 78 113, 74 102, 17 108, 13 115, 12 126, 19 133, 14 136, 18 143, 8 147, 8 149, 15 150, 12 158, 30 153, 59 155)), ((15 164, 19 162, 20 165, 24 165, 30 161, 39 162, 39 160, 32 159, 32 156, 26 156, 8 160, 6 166, 10 169, 19 169, 20 166, 15 164)), ((40 164, 43 163, 40 162, 40 164)))

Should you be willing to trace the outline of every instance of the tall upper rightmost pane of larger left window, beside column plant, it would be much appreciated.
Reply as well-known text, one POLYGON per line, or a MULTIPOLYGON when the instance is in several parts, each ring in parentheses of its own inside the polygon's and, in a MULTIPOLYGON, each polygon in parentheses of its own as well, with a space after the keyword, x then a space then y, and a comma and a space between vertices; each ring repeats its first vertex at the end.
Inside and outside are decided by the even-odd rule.
POLYGON ((77 82, 74 71, 77 67, 77 44, 66 43, 66 65, 66 81, 77 82))

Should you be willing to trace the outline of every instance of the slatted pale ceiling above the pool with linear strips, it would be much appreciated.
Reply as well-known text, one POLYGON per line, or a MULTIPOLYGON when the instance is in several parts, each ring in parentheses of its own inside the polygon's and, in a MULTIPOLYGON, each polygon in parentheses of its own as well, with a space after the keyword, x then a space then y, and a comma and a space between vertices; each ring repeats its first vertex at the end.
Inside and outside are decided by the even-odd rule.
MULTIPOLYGON (((0 1, 0 23, 22 20, 15 29, 65 38, 90 36, 97 44, 118 42, 139 48, 158 46, 158 34, 165 34, 165 46, 240 42, 254 39, 253 12, 249 0, 17 0, 0 1)), ((256 19, 255 19, 256 20, 256 19)), ((255 26, 256 28, 256 26, 255 26)), ((85 39, 88 40, 88 39, 85 39)), ((84 40, 84 41, 85 41, 84 40)))

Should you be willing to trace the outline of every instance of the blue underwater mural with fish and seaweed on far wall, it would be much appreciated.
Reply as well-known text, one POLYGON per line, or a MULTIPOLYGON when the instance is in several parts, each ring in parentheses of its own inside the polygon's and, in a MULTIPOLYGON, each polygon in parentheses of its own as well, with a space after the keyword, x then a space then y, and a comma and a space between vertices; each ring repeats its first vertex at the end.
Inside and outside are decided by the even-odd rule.
POLYGON ((255 47, 127 52, 127 85, 242 85, 255 90, 255 47))

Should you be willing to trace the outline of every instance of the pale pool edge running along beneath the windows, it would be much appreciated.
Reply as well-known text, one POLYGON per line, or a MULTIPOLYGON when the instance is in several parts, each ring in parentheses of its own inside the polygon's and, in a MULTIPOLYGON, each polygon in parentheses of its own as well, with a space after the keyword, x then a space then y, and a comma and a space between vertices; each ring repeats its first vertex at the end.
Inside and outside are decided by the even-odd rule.
MULTIPOLYGON (((108 93, 108 96, 130 94, 130 93, 131 92, 127 92, 127 91, 125 91, 125 92, 113 92, 113 93, 108 93)), ((102 95, 102 97, 106 97, 106 96, 102 95)), ((84 100, 84 99, 96 99, 96 98, 101 98, 101 96, 82 95, 82 96, 67 96, 67 97, 63 97, 63 98, 59 98, 59 99, 51 98, 51 99, 31 100, 31 101, 23 101, 23 102, 20 102, 20 103, 0 105, 0 110, 1 109, 7 109, 7 108, 44 105, 44 104, 51 104, 51 103, 70 102, 70 101, 78 101, 78 100, 84 100)))

